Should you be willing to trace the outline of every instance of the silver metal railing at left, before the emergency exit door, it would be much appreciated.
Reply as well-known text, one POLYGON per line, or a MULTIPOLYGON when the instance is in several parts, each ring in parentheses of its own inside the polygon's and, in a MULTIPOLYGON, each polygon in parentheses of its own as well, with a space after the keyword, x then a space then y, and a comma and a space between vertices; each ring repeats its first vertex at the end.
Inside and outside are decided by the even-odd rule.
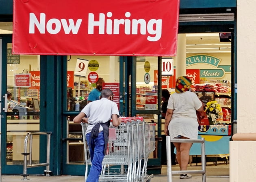
POLYGON ((39 167, 39 166, 46 166, 46 176, 49 176, 49 173, 52 172, 50 171, 50 139, 51 139, 51 134, 52 132, 28 132, 25 139, 24 139, 24 169, 23 169, 23 176, 22 180, 29 180, 27 179, 27 168, 30 167, 39 167), (32 141, 33 141, 33 135, 48 135, 47 136, 47 158, 46 158, 46 163, 39 163, 39 164, 32 164, 32 141), (28 139, 30 140, 29 144, 29 153, 28 153, 28 139), (29 160, 27 163, 27 156, 29 155, 29 160))

